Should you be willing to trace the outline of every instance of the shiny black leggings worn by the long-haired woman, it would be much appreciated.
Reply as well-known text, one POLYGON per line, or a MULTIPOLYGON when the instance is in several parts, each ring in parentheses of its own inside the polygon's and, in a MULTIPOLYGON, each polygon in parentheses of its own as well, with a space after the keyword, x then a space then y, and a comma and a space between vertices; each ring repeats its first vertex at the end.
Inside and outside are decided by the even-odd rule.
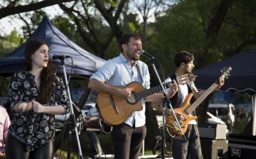
POLYGON ((5 154, 7 159, 52 159, 54 158, 54 142, 52 140, 48 141, 42 147, 27 152, 25 144, 9 133, 7 136, 5 154))

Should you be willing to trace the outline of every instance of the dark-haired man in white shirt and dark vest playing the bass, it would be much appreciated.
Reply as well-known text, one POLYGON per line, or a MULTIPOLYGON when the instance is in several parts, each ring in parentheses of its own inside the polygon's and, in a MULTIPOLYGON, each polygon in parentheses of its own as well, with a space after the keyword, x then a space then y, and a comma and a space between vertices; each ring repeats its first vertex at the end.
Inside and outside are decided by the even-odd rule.
MULTIPOLYGON (((191 55, 190 53, 187 53, 186 51, 181 51, 180 53, 177 53, 175 55, 175 66, 176 71, 175 74, 172 74, 169 78, 171 80, 176 80, 177 77, 181 77, 184 74, 188 74, 188 82, 184 85, 178 85, 178 92, 170 98, 171 104, 174 109, 179 109, 180 106, 183 104, 183 101, 185 101, 186 96, 189 93, 193 93, 194 98, 199 98, 203 93, 205 93, 205 90, 198 91, 197 88, 194 85, 194 80, 196 77, 192 73, 192 70, 194 69, 194 55, 191 55)), ((224 85, 224 79, 222 77, 219 78, 219 84, 216 85, 214 88, 215 90, 219 89, 224 85)), ((175 111, 175 114, 178 117, 178 120, 182 121, 185 120, 186 117, 183 117, 183 115, 180 115, 179 112, 175 111)), ((188 115, 189 117, 190 115, 188 115)), ((167 117, 167 120, 168 117, 167 117)), ((168 123, 168 121, 167 121, 168 123)), ((171 124, 169 124, 171 125, 171 124)), ((172 133, 172 132, 171 132, 172 133)), ((185 136, 187 141, 183 140, 183 136, 176 135, 172 139, 172 156, 175 159, 186 159, 187 157, 193 158, 193 159, 201 159, 202 158, 202 150, 200 146, 200 136, 199 131, 197 128, 197 121, 196 120, 190 120, 189 125, 186 129, 185 136)))

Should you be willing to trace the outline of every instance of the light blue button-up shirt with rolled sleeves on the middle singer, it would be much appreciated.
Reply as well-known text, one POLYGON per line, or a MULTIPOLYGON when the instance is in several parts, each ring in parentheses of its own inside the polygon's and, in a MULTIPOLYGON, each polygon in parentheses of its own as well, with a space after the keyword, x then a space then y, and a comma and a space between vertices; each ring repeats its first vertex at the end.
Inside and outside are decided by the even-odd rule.
MULTIPOLYGON (((149 89, 150 88, 150 74, 147 68, 147 64, 142 61, 135 61, 133 67, 129 61, 125 59, 122 53, 116 58, 112 58, 106 61, 104 66, 102 66, 95 74, 92 74, 91 79, 99 80, 101 82, 106 82, 107 85, 125 88, 131 82, 139 82, 149 89), (142 77, 137 69, 137 66, 142 73, 142 77), (143 78, 143 80, 142 80, 143 78)), ((143 109, 141 111, 134 111, 125 120, 125 123, 135 127, 141 127, 145 125, 145 101, 141 100, 143 109), (134 123, 135 122, 135 123, 134 123)))

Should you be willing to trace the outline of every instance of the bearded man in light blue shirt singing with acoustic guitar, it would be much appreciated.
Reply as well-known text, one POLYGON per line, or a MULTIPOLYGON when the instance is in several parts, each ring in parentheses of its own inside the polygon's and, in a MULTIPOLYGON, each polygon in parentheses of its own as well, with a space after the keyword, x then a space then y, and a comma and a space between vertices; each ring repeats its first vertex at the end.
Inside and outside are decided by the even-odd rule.
MULTIPOLYGON (((147 90, 135 93, 136 90, 150 88, 147 65, 139 61, 142 50, 141 37, 136 34, 125 34, 120 39, 120 48, 122 53, 107 61, 93 74, 88 86, 99 93, 98 107, 102 108, 100 115, 113 125, 111 136, 114 143, 114 158, 136 159, 139 158, 142 141, 147 132, 145 101, 159 101, 164 95, 158 92, 150 95, 151 91, 147 90), (127 113, 127 109, 133 107, 139 109, 127 113), (125 120, 122 121, 123 119, 125 120)), ((175 87, 175 84, 170 87, 175 87)), ((172 90, 169 89, 168 97, 176 93, 172 90)))

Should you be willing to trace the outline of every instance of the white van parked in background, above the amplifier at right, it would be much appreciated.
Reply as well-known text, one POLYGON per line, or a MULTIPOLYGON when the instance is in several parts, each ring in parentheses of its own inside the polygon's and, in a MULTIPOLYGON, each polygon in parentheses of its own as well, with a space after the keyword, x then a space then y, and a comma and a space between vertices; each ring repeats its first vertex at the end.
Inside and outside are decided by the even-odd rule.
POLYGON ((233 104, 209 104, 208 112, 222 119, 228 126, 233 126, 235 123, 235 106, 233 104))

